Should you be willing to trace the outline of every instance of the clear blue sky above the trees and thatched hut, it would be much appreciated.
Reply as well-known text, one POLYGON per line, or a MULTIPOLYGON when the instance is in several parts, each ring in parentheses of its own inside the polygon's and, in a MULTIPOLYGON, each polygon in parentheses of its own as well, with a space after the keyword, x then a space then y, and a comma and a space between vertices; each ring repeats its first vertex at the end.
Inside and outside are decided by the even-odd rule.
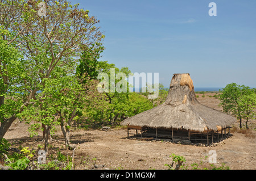
POLYGON ((100 20, 101 60, 135 73, 189 73, 195 87, 256 87, 256 1, 82 0, 100 20), (210 2, 217 16, 209 16, 210 2))

